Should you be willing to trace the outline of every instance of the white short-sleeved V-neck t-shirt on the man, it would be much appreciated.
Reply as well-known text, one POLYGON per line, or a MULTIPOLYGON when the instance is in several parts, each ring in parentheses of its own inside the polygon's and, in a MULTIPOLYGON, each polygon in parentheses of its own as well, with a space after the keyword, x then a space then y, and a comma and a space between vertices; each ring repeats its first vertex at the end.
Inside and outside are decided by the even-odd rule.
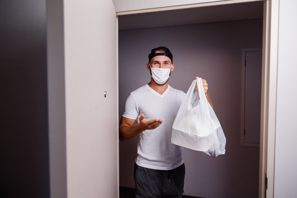
POLYGON ((138 135, 138 166, 155 170, 172 170, 184 163, 183 147, 171 144, 172 125, 186 94, 168 85, 161 95, 149 85, 131 92, 126 100, 123 117, 139 123, 142 114, 147 121, 162 119, 163 123, 153 130, 138 135))

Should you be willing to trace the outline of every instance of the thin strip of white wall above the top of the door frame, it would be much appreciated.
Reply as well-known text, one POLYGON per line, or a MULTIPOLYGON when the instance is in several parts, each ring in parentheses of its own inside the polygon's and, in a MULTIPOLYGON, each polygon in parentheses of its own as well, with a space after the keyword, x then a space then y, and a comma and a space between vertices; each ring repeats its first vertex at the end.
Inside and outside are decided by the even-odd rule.
POLYGON ((214 2, 216 0, 113 0, 116 12, 137 10, 137 9, 149 9, 158 7, 168 7, 177 5, 197 4, 205 2, 214 2))

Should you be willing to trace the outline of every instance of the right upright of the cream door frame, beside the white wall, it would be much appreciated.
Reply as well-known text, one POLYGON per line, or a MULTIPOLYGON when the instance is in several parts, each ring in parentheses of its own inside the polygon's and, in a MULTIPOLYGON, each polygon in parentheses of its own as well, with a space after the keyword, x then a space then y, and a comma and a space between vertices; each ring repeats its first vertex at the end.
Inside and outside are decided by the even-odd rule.
POLYGON ((264 1, 259 197, 274 197, 279 0, 264 1), (267 174, 267 190, 265 190, 267 174))

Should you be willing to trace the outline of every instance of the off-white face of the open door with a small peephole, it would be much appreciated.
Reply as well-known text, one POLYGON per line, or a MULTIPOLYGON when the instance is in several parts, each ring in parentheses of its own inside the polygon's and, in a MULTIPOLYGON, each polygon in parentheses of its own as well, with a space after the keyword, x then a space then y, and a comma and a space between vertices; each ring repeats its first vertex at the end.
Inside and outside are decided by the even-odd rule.
POLYGON ((118 139, 112 1, 64 0, 64 45, 67 196, 115 198, 118 139))

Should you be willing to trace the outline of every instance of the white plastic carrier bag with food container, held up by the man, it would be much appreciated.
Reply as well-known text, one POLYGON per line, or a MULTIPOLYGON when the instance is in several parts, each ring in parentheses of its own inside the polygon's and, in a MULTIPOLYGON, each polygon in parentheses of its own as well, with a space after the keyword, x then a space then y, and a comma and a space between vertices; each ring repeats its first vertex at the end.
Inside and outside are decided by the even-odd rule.
POLYGON ((181 103, 172 126, 171 143, 212 157, 225 154, 226 138, 206 99, 201 78, 193 81, 181 103), (199 95, 195 90, 196 82, 199 95))

